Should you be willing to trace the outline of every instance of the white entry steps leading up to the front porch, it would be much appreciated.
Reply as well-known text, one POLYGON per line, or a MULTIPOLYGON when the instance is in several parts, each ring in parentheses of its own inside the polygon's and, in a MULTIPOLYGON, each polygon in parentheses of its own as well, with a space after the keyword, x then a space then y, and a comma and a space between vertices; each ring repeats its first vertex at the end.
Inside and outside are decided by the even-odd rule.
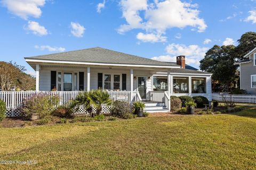
POLYGON ((143 101, 145 103, 145 112, 148 113, 162 113, 168 112, 164 103, 157 102, 157 101, 143 101))

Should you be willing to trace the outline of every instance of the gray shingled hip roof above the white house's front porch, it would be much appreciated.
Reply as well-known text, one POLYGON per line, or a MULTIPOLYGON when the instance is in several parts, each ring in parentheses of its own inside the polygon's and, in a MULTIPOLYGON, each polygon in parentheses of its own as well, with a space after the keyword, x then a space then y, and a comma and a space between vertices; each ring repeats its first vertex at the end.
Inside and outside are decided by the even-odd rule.
POLYGON ((25 59, 52 60, 52 61, 72 61, 72 62, 91 62, 108 64, 137 64, 137 65, 157 65, 157 66, 177 66, 165 62, 159 62, 148 58, 135 55, 115 52, 113 50, 95 47, 71 52, 55 53, 35 57, 25 57, 25 59))

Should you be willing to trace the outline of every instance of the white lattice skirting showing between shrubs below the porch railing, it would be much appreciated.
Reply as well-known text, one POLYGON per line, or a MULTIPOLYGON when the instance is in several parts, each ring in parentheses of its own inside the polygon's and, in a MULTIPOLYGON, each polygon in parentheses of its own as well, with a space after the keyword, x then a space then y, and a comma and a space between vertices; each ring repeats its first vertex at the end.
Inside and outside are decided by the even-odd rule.
MULTIPOLYGON (((103 106, 102 107, 102 113, 110 113, 111 106, 103 106)), ((93 113, 96 112, 96 109, 93 108, 93 113)), ((86 114, 86 111, 84 107, 79 107, 78 111, 75 114, 86 114)), ((21 109, 15 108, 15 109, 7 109, 6 117, 19 117, 21 116, 21 109)))

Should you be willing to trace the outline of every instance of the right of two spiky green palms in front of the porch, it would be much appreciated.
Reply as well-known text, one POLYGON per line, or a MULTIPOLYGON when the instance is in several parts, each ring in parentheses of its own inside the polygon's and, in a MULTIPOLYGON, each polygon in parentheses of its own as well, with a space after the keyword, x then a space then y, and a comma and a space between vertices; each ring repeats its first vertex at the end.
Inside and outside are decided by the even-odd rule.
POLYGON ((103 105, 109 106, 112 100, 109 98, 109 94, 106 90, 92 90, 90 94, 92 105, 96 109, 96 115, 101 114, 103 105))

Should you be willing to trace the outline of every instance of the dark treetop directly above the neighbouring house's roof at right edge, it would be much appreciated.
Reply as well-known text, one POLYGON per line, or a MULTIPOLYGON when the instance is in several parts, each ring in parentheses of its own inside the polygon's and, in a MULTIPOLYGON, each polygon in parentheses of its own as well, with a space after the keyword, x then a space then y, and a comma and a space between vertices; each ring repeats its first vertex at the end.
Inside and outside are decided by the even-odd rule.
POLYGON ((256 47, 256 32, 246 32, 237 40, 238 46, 235 49, 238 60, 243 60, 243 56, 256 47))

